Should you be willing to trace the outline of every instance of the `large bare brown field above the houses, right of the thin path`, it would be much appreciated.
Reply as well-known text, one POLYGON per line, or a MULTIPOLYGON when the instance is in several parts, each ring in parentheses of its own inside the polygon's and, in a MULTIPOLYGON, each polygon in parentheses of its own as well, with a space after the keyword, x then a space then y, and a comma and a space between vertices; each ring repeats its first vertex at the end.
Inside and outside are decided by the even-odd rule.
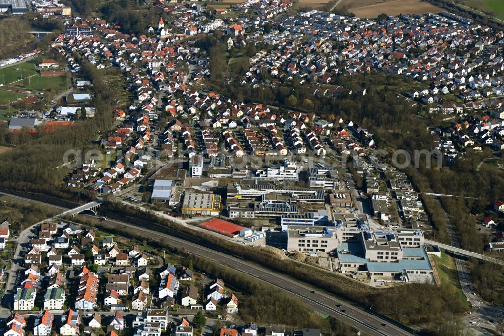
POLYGON ((337 9, 346 8, 361 18, 375 18, 387 15, 438 13, 443 9, 421 0, 341 0, 337 9))

